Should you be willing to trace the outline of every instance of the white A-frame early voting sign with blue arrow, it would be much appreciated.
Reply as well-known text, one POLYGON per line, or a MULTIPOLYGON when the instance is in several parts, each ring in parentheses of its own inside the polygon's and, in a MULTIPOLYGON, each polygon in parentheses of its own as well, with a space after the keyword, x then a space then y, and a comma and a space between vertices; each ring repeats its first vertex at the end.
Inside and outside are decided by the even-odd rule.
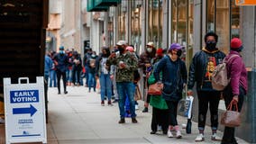
POLYGON ((4 92, 6 143, 47 143, 43 77, 32 84, 27 77, 19 78, 18 84, 4 78, 4 92))

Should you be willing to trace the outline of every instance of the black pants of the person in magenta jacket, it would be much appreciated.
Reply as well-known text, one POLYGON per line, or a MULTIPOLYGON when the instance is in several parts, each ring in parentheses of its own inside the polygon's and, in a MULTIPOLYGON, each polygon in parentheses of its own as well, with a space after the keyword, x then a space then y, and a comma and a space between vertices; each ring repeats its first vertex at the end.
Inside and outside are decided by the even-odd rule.
MULTIPOLYGON (((242 103, 245 95, 245 90, 242 88, 242 86, 239 87, 239 95, 238 95, 238 112, 241 112, 242 110, 242 103)), ((227 107, 229 103, 233 100, 233 94, 232 89, 230 86, 228 86, 224 90, 224 103, 227 107)), ((224 127, 224 136, 222 140, 222 144, 237 144, 236 139, 234 138, 234 128, 231 127, 224 127)))

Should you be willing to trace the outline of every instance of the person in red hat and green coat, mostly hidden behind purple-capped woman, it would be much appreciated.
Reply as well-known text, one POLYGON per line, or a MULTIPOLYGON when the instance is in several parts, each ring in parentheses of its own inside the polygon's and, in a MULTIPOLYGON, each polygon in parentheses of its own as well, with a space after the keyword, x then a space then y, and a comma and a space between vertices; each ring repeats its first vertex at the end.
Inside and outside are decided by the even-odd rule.
MULTIPOLYGON (((158 66, 160 59, 163 58, 162 52, 163 52, 162 49, 157 49, 157 54, 156 54, 156 58, 154 59, 152 72, 154 72, 154 70, 158 66)), ((162 79, 162 74, 160 73, 160 80, 161 79, 162 79)), ((149 85, 156 83, 153 73, 151 73, 151 76, 148 79, 148 83, 149 85)), ((168 123, 169 110, 168 110, 167 103, 160 95, 151 95, 150 104, 152 106, 151 134, 155 134, 159 126, 161 127, 163 134, 167 134, 168 125, 169 125, 168 123)))

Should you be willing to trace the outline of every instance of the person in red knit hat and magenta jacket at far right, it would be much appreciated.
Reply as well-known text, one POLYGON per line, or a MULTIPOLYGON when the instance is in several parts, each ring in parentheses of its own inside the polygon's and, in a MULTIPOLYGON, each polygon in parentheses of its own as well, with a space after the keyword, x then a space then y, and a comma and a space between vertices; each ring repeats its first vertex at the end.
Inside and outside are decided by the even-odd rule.
MULTIPOLYGON (((225 60, 228 61, 226 67, 227 76, 230 77, 230 84, 224 89, 224 101, 227 107, 234 100, 238 105, 238 112, 241 112, 244 96, 248 91, 247 71, 241 56, 243 49, 242 40, 233 38, 230 47, 230 52, 225 57, 225 60), (237 55, 238 57, 234 57, 233 55, 237 55)), ((234 138, 234 128, 224 127, 224 136, 221 143, 237 144, 234 138)))

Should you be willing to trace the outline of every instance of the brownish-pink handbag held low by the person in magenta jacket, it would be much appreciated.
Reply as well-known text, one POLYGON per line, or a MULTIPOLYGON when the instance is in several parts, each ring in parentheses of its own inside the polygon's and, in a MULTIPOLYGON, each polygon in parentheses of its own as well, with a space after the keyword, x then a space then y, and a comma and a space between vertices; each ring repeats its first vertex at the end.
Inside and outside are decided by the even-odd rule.
POLYGON ((232 100, 227 107, 227 111, 223 113, 221 118, 221 124, 226 127, 238 127, 241 124, 241 114, 238 112, 237 103, 232 100), (233 110, 233 106, 236 110, 233 110))

